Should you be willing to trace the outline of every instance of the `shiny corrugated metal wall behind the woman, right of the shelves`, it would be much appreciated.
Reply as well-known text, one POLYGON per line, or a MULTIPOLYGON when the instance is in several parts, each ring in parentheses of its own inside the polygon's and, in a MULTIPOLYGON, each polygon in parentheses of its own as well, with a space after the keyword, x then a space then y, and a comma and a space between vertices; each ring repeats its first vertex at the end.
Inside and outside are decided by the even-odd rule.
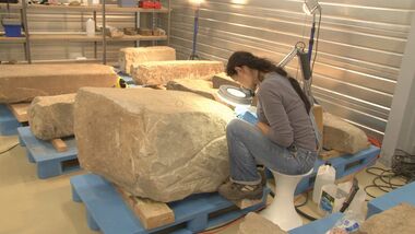
MULTIPOLYGON (((303 0, 208 0, 200 12, 198 54, 223 60, 248 50, 280 61, 308 42, 311 16, 303 0)), ((405 48, 413 0, 327 0, 322 5, 313 92, 327 110, 382 139, 405 48)), ((173 1, 170 46, 191 52, 193 10, 173 1)), ((287 70, 295 75, 297 62, 287 70)))

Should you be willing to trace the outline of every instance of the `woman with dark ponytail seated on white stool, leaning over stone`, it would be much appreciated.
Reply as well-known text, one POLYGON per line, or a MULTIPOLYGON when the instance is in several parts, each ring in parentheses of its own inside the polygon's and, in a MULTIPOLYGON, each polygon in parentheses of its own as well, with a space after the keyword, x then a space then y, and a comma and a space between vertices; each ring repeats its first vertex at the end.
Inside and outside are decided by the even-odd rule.
POLYGON ((218 191, 229 200, 260 199, 263 185, 257 163, 287 175, 313 167, 317 143, 311 106, 294 78, 250 52, 232 55, 226 73, 246 89, 258 87, 259 122, 234 119, 226 127, 230 179, 218 191))

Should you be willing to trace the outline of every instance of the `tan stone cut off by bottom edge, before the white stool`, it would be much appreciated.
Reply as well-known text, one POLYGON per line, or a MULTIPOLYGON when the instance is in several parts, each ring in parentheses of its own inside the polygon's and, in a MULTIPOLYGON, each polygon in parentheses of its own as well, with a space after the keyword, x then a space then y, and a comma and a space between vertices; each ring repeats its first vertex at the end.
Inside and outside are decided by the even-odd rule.
POLYGON ((238 234, 286 234, 278 225, 266 220, 258 213, 248 213, 242 223, 239 224, 238 234))

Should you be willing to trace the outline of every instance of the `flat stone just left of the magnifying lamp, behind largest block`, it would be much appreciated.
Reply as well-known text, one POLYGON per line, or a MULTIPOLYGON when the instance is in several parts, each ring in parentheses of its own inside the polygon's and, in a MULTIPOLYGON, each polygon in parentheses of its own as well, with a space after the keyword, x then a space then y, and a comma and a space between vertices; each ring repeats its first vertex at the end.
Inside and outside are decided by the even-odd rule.
POLYGON ((191 92, 204 97, 215 100, 217 90, 212 87, 212 82, 206 80, 178 79, 167 83, 167 90, 191 92))

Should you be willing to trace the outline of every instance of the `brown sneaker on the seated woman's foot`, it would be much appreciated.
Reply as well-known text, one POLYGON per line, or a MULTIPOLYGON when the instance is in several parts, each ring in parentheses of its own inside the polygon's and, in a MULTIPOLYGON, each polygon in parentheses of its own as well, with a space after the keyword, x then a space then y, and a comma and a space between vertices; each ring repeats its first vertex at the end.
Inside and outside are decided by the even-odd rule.
POLYGON ((263 195, 262 184, 259 185, 241 185, 233 182, 227 182, 221 185, 220 195, 228 200, 242 199, 261 199, 263 195))

